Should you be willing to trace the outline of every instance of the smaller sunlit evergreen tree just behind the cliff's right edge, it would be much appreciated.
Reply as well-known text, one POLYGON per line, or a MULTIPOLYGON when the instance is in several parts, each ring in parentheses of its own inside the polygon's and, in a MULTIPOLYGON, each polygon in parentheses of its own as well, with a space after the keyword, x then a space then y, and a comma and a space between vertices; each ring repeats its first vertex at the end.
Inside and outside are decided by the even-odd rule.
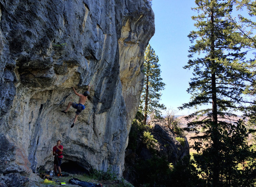
POLYGON ((164 89, 165 84, 160 77, 161 70, 158 61, 158 56, 149 44, 145 51, 145 78, 139 105, 139 109, 144 113, 144 124, 146 124, 148 114, 155 112, 155 115, 159 116, 160 110, 166 109, 163 104, 159 104, 162 95, 160 91, 164 89))

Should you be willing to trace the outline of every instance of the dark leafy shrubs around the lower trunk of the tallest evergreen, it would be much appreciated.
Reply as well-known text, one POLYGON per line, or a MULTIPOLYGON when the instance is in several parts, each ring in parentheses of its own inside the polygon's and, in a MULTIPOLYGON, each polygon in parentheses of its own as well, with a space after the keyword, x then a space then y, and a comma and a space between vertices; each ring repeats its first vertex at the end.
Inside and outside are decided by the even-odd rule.
POLYGON ((219 129, 219 151, 218 158, 213 147, 213 144, 205 145, 207 149, 202 148, 196 143, 193 149, 200 153, 194 154, 196 165, 199 168, 199 174, 203 179, 207 180, 208 185, 212 185, 212 182, 208 180, 212 178, 212 165, 214 160, 218 159, 220 162, 220 186, 254 186, 256 182, 255 177, 255 164, 256 153, 252 150, 252 146, 248 146, 246 139, 248 137, 247 130, 243 124, 243 121, 239 121, 236 125, 230 125, 228 130, 219 129), (242 170, 239 168, 239 164, 247 162, 247 166, 242 170))

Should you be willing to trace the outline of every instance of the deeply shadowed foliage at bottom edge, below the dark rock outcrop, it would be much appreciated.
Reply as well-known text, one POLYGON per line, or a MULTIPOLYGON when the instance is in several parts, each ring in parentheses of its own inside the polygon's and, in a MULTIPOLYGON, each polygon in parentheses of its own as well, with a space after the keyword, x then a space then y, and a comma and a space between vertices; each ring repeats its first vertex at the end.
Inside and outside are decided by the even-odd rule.
POLYGON ((165 158, 155 156, 145 161, 140 160, 136 167, 139 175, 138 183, 145 186, 204 186, 189 157, 170 167, 170 163, 165 158))

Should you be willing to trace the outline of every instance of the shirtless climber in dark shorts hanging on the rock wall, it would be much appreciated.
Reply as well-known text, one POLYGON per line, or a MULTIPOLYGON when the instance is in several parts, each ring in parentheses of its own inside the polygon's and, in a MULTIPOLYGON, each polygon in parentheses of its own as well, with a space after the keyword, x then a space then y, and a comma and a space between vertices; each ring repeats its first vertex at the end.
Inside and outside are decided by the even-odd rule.
POLYGON ((73 108, 77 109, 76 112, 75 112, 75 119, 74 119, 74 122, 73 122, 73 124, 71 125, 70 128, 74 127, 78 115, 79 115, 79 114, 82 112, 82 110, 84 110, 84 108, 85 108, 84 103, 85 103, 85 101, 86 101, 86 99, 87 99, 87 96, 89 96, 89 94, 90 94, 90 84, 88 84, 88 90, 85 91, 83 94, 77 93, 77 92, 75 91, 75 88, 74 88, 74 87, 73 87, 73 91, 74 91, 74 93, 75 93, 76 95, 79 96, 79 104, 76 104, 76 103, 70 101, 70 102, 68 103, 68 105, 67 105, 66 110, 61 111, 61 112, 63 112, 63 113, 66 114, 71 105, 72 105, 73 108))

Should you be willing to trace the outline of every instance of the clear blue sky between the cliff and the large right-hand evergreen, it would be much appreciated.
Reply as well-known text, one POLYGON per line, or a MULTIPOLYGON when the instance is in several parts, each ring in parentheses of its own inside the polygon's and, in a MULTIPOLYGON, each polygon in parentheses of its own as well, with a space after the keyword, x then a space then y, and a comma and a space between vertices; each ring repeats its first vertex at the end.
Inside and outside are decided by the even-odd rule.
MULTIPOLYGON (((188 62, 188 50, 191 43, 189 32, 194 30, 191 16, 196 12, 193 0, 153 0, 155 13, 155 35, 149 44, 155 50, 161 64, 161 77, 166 84, 160 103, 167 109, 177 110, 176 115, 188 115, 192 111, 179 111, 177 107, 190 100, 186 92, 192 77, 192 70, 183 69, 188 62)), ((165 113, 163 112, 163 115, 165 113)))

